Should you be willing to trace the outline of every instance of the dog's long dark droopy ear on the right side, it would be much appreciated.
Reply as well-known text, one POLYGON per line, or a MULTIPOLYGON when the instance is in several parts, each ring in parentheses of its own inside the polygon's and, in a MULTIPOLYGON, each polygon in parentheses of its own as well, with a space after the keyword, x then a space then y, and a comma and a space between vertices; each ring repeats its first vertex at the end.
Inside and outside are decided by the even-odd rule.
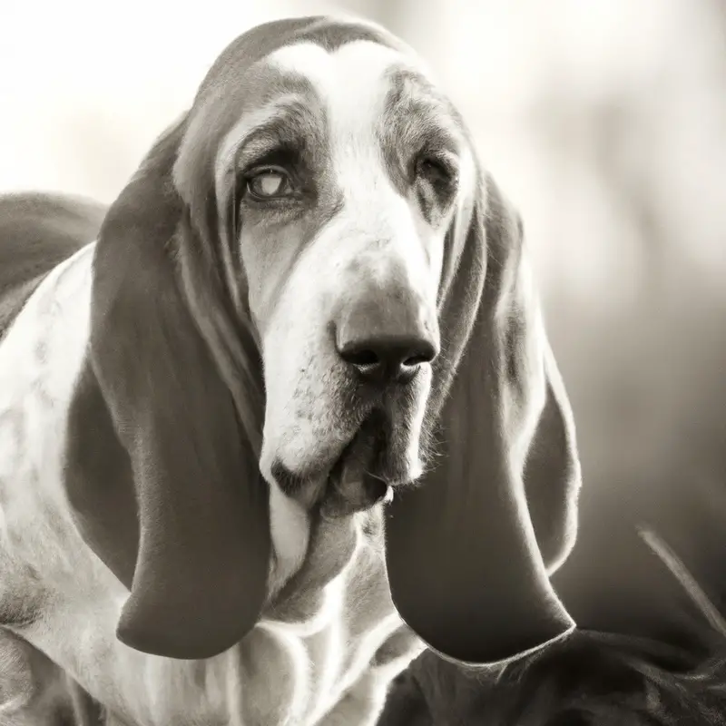
POLYGON ((494 182, 480 182, 447 244, 434 460, 388 506, 388 578, 433 650, 495 663, 574 627, 548 569, 574 544, 580 466, 522 228, 494 182))

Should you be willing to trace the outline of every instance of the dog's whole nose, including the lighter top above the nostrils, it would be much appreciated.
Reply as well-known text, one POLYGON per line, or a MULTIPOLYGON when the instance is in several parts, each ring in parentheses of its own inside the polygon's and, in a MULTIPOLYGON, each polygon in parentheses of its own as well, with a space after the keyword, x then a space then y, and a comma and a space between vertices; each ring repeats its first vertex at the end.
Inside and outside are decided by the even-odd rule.
POLYGON ((437 357, 435 329, 413 296, 368 297, 343 311, 338 355, 370 383, 407 383, 437 357))

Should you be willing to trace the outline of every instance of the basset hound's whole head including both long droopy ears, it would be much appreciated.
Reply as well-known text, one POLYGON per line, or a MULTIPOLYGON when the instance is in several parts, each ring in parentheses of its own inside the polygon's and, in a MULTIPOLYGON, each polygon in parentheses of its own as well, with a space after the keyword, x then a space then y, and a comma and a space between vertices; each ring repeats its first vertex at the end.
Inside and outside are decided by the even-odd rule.
POLYGON ((548 574, 579 466, 522 227, 407 47, 321 18, 242 35, 95 254, 91 368, 138 517, 97 484, 72 500, 131 589, 126 643, 231 646, 311 512, 391 493, 394 602, 439 652, 500 661, 572 627, 548 574))

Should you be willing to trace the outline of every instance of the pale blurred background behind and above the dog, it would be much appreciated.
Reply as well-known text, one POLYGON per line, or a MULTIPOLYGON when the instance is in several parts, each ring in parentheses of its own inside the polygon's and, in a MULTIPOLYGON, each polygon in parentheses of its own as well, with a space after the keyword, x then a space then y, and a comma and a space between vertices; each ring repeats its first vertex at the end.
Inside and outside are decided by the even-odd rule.
MULTIPOLYGON (((602 598, 632 557, 630 545, 610 558, 603 550, 617 554, 623 522, 646 522, 691 551, 719 599, 725 8, 721 0, 3 0, 0 191, 113 200, 224 45, 251 25, 330 11, 387 25, 461 107, 525 220, 584 467, 582 544, 562 587, 583 602, 602 598)), ((628 607, 637 609, 653 594, 633 573, 628 607)))

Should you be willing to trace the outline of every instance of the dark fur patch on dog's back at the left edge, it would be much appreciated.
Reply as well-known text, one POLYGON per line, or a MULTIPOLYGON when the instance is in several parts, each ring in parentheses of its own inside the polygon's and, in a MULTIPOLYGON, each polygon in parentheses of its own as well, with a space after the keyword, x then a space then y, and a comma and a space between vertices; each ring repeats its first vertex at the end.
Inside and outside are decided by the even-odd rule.
POLYGON ((0 195, 0 338, 44 275, 95 239, 104 213, 60 194, 0 195))

